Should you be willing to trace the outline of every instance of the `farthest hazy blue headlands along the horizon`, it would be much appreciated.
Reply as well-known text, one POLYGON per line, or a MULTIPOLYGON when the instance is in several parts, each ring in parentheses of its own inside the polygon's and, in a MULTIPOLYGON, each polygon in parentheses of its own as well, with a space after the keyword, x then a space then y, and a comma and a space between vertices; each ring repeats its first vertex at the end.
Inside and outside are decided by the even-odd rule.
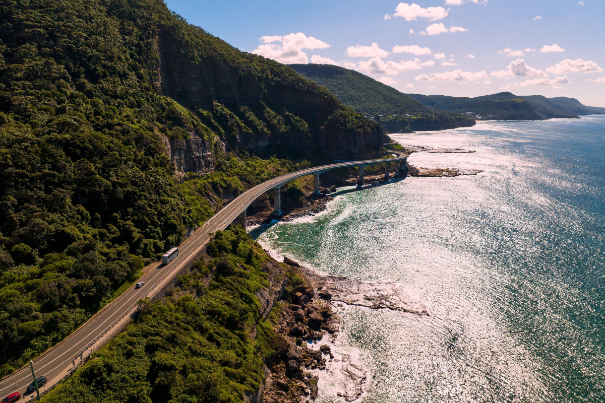
POLYGON ((605 114, 605 108, 584 106, 577 99, 567 97, 519 96, 511 92, 499 92, 475 98, 408 95, 428 108, 468 114, 477 120, 543 120, 605 114))

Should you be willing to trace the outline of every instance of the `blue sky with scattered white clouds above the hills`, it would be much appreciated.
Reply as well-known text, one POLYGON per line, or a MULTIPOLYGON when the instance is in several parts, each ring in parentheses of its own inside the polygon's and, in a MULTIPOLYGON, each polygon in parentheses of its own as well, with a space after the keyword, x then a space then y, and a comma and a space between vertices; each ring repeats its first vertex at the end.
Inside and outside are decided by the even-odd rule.
POLYGON ((240 50, 283 63, 335 63, 402 92, 511 91, 605 106, 604 0, 167 4, 240 50))

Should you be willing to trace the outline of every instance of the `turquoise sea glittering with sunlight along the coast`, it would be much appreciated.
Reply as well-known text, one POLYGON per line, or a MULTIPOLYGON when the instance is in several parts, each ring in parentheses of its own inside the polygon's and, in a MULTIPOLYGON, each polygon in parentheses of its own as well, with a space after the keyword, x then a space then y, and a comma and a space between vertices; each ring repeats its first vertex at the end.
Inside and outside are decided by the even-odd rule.
MULTIPOLYGON (((418 167, 255 230, 329 274, 404 283, 433 316, 341 309, 370 368, 364 402, 605 401, 605 117, 393 135, 418 167)), ((324 400, 330 396, 323 396, 324 400)))

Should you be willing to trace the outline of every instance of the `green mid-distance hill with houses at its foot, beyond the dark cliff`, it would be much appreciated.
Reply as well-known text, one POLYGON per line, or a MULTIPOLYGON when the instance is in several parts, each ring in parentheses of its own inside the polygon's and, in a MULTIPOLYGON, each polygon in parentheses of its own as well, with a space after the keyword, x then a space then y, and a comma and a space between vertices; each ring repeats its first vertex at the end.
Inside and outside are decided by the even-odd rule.
POLYGON ((372 117, 387 133, 468 127, 474 119, 435 111, 365 74, 334 65, 290 65, 306 79, 329 89, 342 103, 372 117))

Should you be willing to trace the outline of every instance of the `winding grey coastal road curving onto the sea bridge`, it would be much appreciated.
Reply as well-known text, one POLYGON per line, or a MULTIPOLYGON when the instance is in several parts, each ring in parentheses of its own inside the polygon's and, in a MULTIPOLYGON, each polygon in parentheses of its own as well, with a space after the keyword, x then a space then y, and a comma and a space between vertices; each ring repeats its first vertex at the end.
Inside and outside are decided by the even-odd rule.
MULTIPOLYGON (((242 193, 195 231, 191 239, 183 247, 180 247, 178 256, 172 262, 167 265, 157 265, 143 275, 139 281, 145 282, 145 284, 141 288, 137 289, 131 286, 70 336, 36 358, 34 360, 36 376, 44 375, 48 378, 47 385, 41 388, 40 393, 69 375, 74 367, 82 362, 79 355, 86 357, 91 352, 96 351, 105 341, 110 340, 111 337, 117 334, 119 329, 128 324, 138 307, 137 301, 145 297, 153 298, 162 295, 165 289, 174 283, 177 274, 188 268, 191 262, 203 253, 210 235, 215 231, 227 228, 243 211, 246 211, 258 196, 300 176, 319 175, 328 170, 342 167, 363 167, 387 161, 402 161, 408 157, 406 153, 399 151, 390 150, 389 153, 395 155, 395 157, 330 164, 287 173, 242 193)), ((29 365, 5 376, 0 380, 0 399, 12 392, 19 392, 24 395, 25 389, 31 381, 29 365)), ((21 401, 30 401, 35 396, 36 392, 31 395, 24 395, 21 401)))

